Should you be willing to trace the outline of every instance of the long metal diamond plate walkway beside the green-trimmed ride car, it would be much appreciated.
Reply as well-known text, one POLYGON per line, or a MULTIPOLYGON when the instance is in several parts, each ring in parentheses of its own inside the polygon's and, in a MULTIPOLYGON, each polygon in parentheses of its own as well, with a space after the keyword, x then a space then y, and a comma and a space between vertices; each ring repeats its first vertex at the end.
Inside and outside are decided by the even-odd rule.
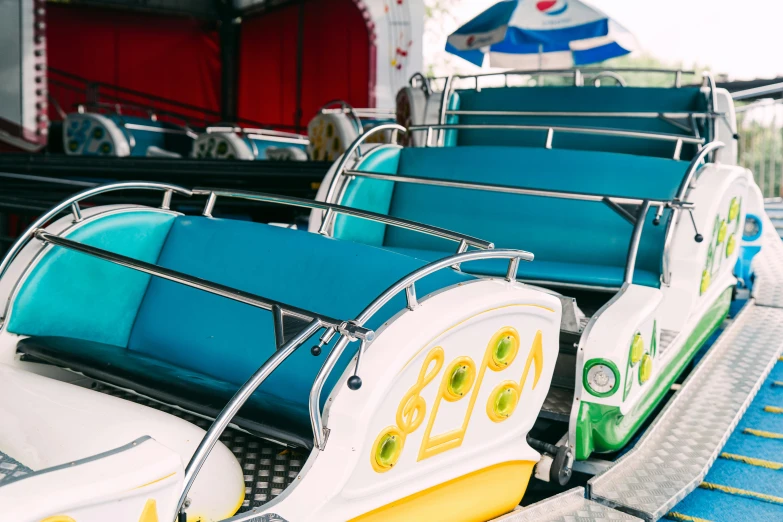
POLYGON ((661 518, 703 480, 781 351, 783 310, 751 301, 590 498, 661 518))

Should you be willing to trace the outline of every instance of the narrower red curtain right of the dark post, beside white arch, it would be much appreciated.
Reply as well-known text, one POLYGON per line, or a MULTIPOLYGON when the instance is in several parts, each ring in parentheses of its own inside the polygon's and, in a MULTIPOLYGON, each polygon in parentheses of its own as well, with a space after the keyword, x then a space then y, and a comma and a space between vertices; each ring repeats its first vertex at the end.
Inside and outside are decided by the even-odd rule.
MULTIPOLYGON (((352 0, 305 3, 302 119, 306 126, 335 99, 370 103, 370 43, 366 21, 352 0)), ((296 124, 296 53, 299 6, 248 17, 242 23, 239 116, 296 124)))

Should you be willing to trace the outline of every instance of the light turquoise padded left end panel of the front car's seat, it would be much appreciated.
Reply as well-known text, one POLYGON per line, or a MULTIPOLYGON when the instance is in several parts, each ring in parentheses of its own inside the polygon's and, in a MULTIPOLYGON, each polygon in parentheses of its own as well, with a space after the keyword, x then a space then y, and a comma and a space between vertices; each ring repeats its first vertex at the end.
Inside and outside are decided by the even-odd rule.
MULTIPOLYGON (((154 263, 174 222, 171 213, 130 210, 90 219, 68 239, 154 263)), ((8 331, 125 346, 150 276, 52 247, 14 300, 8 331)))

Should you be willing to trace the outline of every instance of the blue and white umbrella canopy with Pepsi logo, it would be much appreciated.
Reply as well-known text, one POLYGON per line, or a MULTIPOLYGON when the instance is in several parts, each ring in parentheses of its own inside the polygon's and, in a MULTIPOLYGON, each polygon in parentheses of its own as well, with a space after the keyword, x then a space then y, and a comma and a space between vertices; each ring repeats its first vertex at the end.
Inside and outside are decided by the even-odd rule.
POLYGON ((636 39, 579 0, 506 0, 449 36, 446 50, 481 66, 565 69, 635 50, 636 39))

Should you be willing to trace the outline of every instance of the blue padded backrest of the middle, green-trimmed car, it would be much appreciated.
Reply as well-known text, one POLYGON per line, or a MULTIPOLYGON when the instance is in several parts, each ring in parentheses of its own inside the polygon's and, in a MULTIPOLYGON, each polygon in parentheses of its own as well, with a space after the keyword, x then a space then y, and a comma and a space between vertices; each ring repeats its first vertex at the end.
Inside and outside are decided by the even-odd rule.
MULTIPOLYGON (((399 175, 671 199, 688 163, 607 152, 523 147, 406 148, 399 175)), ((394 184, 389 214, 535 254, 537 261, 624 267, 631 225, 603 203, 394 184)), ((637 268, 660 274, 665 223, 644 228, 637 268)), ((384 246, 449 252, 446 240, 388 227, 384 246)))

